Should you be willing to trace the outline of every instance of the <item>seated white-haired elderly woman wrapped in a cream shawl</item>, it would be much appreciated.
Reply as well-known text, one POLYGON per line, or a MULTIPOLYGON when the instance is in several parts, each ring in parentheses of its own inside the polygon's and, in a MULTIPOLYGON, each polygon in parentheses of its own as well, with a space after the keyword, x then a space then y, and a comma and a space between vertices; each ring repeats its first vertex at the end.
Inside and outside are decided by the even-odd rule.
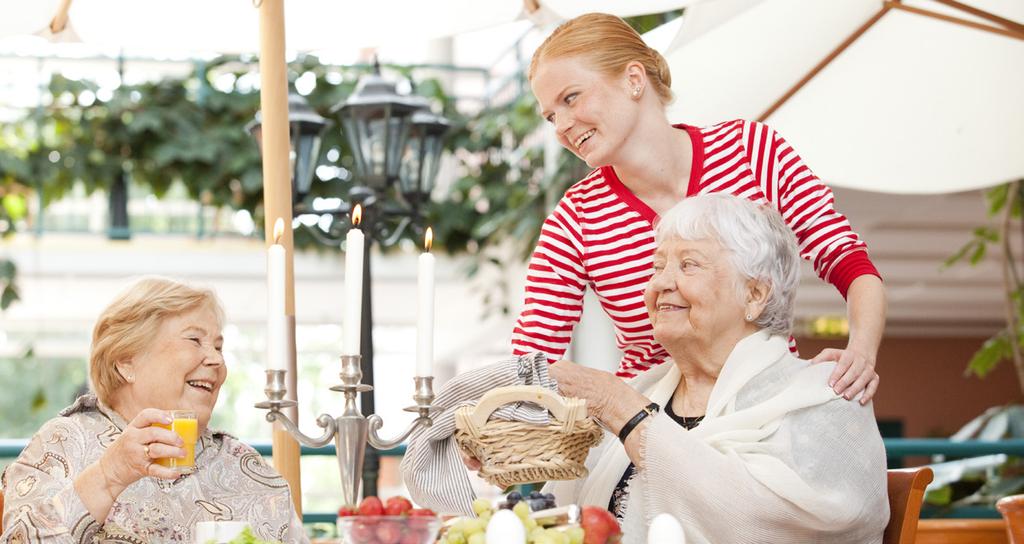
POLYGON ((644 301, 672 359, 631 381, 562 361, 566 396, 618 441, 560 503, 607 506, 630 541, 662 512, 687 542, 878 543, 886 457, 871 405, 828 387, 834 364, 787 347, 800 257, 772 209, 691 197, 662 218, 644 301))

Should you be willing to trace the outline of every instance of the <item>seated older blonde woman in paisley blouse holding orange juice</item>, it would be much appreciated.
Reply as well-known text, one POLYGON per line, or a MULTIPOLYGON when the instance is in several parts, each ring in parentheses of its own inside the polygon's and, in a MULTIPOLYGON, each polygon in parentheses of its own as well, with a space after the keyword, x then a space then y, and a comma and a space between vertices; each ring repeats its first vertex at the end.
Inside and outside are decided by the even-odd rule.
POLYGON ((47 421, 3 473, 0 542, 193 542, 204 520, 247 521, 264 539, 307 542, 288 484, 260 455, 208 424, 227 375, 214 293, 142 279, 99 316, 94 393, 47 421), (195 469, 162 424, 196 413, 195 469))

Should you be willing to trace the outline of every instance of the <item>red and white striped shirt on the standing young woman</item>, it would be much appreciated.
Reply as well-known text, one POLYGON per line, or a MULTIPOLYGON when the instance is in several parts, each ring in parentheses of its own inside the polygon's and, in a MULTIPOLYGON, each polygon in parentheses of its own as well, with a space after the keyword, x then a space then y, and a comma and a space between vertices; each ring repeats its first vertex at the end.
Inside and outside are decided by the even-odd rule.
MULTIPOLYGON (((879 276, 864 243, 833 207, 831 191, 777 132, 743 120, 678 128, 693 142, 686 196, 729 193, 775 207, 797 235, 801 256, 844 297, 855 278, 879 276)), ((657 219, 611 167, 569 187, 544 221, 530 258, 514 352, 542 351, 552 363, 561 359, 590 287, 611 318, 623 350, 617 375, 632 377, 668 359, 643 302, 653 273, 657 219)))

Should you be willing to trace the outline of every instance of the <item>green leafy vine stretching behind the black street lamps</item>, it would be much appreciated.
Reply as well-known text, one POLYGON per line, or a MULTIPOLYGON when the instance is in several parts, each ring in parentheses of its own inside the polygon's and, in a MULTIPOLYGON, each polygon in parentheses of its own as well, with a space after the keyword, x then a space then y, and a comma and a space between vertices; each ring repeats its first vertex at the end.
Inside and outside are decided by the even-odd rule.
MULTIPOLYGON (((325 66, 312 56, 289 68, 292 81, 300 76, 308 79, 310 74, 315 80, 306 99, 331 122, 318 164, 338 172, 336 177, 313 183, 307 200, 345 198, 357 176, 335 107, 354 90, 369 68, 325 66)), ((403 67, 386 69, 414 72, 403 67)), ((259 108, 258 91, 249 83, 253 70, 237 57, 221 57, 197 65, 181 78, 124 85, 105 94, 93 82, 54 76, 47 88, 51 99, 44 100, 47 106, 27 112, 20 122, 0 130, 0 179, 4 180, 0 213, 24 217, 24 197, 30 191, 39 192, 45 205, 76 183, 87 192, 105 191, 126 173, 133 186, 157 197, 180 181, 204 205, 248 210, 255 223, 262 224, 260 158, 244 130, 259 108)), ((557 170, 545 175, 543 142, 538 137, 542 120, 531 96, 467 117, 456 110, 436 80, 415 83, 416 92, 453 121, 446 150, 459 163, 459 177, 447 194, 435 193, 435 201, 426 208, 435 247, 475 255, 470 274, 482 266, 501 266, 504 254, 497 256, 493 248, 506 242, 524 259, 557 199, 586 173, 582 163, 562 151, 557 170)), ((398 219, 386 220, 393 220, 393 227, 398 219)), ((346 228, 344 221, 336 224, 346 228)), ((295 232, 296 247, 338 250, 337 245, 316 242, 309 228, 317 227, 295 232)), ((343 232, 331 235, 340 237, 343 232)), ((420 233, 409 231, 406 236, 420 242, 420 233)), ((13 278, 13 273, 0 274, 0 286, 5 287, 0 304, 16 299, 13 278)), ((507 304, 496 304, 507 310, 507 304)))

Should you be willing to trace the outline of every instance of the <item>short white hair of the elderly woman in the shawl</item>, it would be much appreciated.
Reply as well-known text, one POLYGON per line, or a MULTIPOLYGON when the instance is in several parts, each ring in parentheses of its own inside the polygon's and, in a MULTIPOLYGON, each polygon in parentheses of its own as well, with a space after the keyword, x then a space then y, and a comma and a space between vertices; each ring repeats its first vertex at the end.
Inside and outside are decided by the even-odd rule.
POLYGON ((725 248, 736 273, 739 302, 749 280, 768 286, 764 311, 754 324, 772 334, 793 330, 793 306, 800 281, 800 252, 793 231, 767 206, 727 194, 689 197, 657 224, 655 241, 714 240, 725 248))

